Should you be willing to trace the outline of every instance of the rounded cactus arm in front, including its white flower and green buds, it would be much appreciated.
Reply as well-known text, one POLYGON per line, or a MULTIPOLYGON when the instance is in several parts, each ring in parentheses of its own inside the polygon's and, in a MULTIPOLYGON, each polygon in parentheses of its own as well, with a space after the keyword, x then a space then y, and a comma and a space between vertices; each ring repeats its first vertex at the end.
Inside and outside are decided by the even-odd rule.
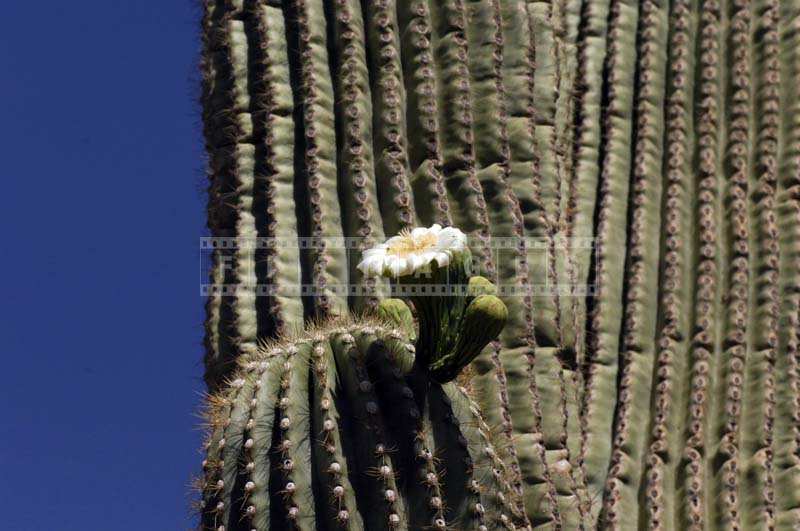
POLYGON ((488 280, 468 279, 463 240, 434 226, 367 251, 360 268, 391 276, 405 301, 386 299, 377 315, 329 320, 240 360, 209 400, 202 529, 522 521, 489 427, 452 382, 507 317, 488 280))

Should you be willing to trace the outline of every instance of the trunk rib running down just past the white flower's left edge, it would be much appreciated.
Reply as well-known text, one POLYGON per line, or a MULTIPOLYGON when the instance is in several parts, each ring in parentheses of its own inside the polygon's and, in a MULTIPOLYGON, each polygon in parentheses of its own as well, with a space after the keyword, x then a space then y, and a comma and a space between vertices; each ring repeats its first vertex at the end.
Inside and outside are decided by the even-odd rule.
MULTIPOLYGON (((336 139, 342 225, 347 238, 357 238, 354 246, 348 245, 348 250, 360 253, 384 239, 372 153, 372 101, 364 20, 358 0, 337 0, 331 4, 334 100, 341 102, 336 106, 336 139)), ((351 255, 350 284, 366 288, 364 296, 357 294, 350 300, 350 307, 360 311, 376 304, 374 290, 379 281, 363 278, 357 264, 357 256, 351 255)))

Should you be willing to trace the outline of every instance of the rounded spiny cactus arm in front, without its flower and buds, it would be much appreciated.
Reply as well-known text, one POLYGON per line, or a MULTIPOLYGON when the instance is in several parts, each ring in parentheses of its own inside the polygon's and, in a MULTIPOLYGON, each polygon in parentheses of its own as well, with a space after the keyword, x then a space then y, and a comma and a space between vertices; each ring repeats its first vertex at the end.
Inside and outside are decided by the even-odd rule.
POLYGON ((364 317, 240 358, 209 399, 202 528, 519 524, 478 406, 417 372, 413 351, 400 329, 364 317))

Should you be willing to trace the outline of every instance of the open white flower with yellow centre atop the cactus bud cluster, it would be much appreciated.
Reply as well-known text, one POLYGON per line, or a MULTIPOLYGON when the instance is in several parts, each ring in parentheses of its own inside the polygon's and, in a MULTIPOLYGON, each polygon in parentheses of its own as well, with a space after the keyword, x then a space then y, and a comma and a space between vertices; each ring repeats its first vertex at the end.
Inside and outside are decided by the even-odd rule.
POLYGON ((401 277, 427 271, 433 262, 446 267, 466 250, 467 236, 455 227, 417 227, 364 251, 358 269, 366 276, 401 277))

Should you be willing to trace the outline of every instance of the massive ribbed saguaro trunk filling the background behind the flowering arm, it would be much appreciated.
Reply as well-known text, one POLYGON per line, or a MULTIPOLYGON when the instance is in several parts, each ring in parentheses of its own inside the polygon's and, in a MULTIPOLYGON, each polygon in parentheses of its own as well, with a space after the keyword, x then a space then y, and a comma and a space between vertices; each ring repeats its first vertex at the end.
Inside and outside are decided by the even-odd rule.
MULTIPOLYGON (((361 251, 452 225, 508 308, 460 383, 504 449, 511 523, 798 528, 798 21, 798 0, 206 0, 211 234, 357 238, 349 253, 332 239, 214 252, 213 284, 313 287, 209 296, 206 379, 228 397, 215 418, 244 418, 257 380, 237 367, 266 361, 259 340, 376 308, 385 280, 357 269, 361 251)), ((297 348, 276 359, 312 357, 297 348)), ((237 459, 215 504, 245 499, 237 459)), ((376 481, 368 468, 351 483, 376 481)), ((333 527, 317 487, 302 509, 333 527)), ((466 498, 449 499, 459 528, 466 498)), ((384 508, 346 501, 350 526, 353 503, 384 508)))

